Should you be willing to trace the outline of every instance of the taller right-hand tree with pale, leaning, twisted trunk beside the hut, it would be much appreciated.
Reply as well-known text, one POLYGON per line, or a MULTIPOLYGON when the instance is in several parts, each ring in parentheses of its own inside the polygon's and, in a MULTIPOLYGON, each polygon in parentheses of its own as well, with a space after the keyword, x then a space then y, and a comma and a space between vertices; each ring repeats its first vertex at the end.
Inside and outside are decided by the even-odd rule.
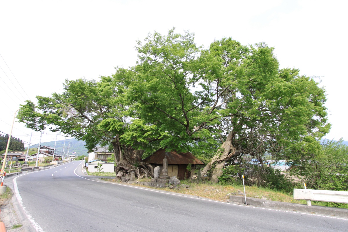
POLYGON ((201 175, 217 182, 226 161, 246 154, 281 155, 304 136, 321 138, 325 91, 296 69, 279 70, 273 48, 231 38, 197 47, 193 34, 149 34, 137 46, 134 106, 157 123, 168 150, 214 152, 201 175))

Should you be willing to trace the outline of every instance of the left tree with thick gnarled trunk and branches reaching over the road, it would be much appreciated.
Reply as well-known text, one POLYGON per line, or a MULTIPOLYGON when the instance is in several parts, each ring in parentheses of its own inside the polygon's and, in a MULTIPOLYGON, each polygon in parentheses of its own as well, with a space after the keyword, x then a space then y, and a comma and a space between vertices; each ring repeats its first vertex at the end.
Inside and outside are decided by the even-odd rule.
POLYGON ((86 142, 93 150, 99 144, 112 146, 116 173, 136 166, 137 174, 151 175, 152 167, 142 162, 144 147, 156 140, 156 125, 144 125, 129 116, 124 97, 134 72, 117 68, 111 77, 95 80, 66 80, 63 93, 37 96, 38 104, 26 101, 17 118, 34 130, 61 131, 86 142))

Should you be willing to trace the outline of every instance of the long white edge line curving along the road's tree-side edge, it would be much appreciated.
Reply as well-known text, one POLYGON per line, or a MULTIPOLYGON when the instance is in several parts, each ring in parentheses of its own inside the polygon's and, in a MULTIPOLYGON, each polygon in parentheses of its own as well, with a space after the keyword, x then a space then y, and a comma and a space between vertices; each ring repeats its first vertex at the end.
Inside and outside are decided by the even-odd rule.
MULTIPOLYGON (((81 162, 82 165, 82 162, 81 162)), ((85 177, 79 176, 76 173, 76 169, 80 167, 80 165, 78 165, 75 170, 74 170, 74 174, 77 175, 78 177, 87 179, 85 177)), ((93 179, 87 179, 88 181, 95 181, 93 179)), ((95 181, 95 182, 100 182, 100 183, 104 183, 104 184, 116 184, 116 185, 121 185, 121 186, 126 186, 126 187, 132 187, 132 188, 136 188, 136 189, 141 189, 141 190, 146 190, 146 191, 151 191, 151 192, 157 192, 157 193, 163 193, 163 194, 169 194, 169 195, 174 195, 174 196, 178 196, 178 197, 187 197, 187 198, 192 198, 195 200, 202 200, 202 201, 212 201, 215 203, 222 203, 222 204, 228 204, 228 205, 234 205, 234 206, 242 206, 242 207, 250 207, 250 208, 255 208, 255 209, 266 209, 266 210, 275 210, 275 211, 280 211, 280 212, 286 212, 286 213, 294 213, 294 214, 307 214, 307 213, 299 213, 299 212, 294 212, 294 211, 286 211, 286 210, 278 210, 278 209, 268 209, 268 208, 261 208, 261 207, 254 207, 254 206, 245 206, 245 205, 237 205, 234 203, 228 203, 228 202, 222 202, 222 201, 214 201, 214 200, 209 200, 209 199, 203 199, 203 198, 197 198, 197 197, 190 197, 190 196, 185 196, 185 195, 179 195, 179 194, 174 194, 174 193, 170 193, 170 192, 162 192, 162 191, 156 191, 156 190, 152 190, 152 189, 144 189, 141 187, 137 187, 137 186, 133 186, 133 185, 125 185, 125 184, 118 184, 118 183, 111 183, 111 182, 103 182, 103 181, 95 181)), ((315 214, 307 214, 310 216, 317 216, 317 217, 329 217, 329 218, 336 218, 336 219, 341 219, 341 220, 348 220, 347 218, 340 218, 340 217, 331 217, 331 216, 325 216, 325 215, 315 215, 315 214)))

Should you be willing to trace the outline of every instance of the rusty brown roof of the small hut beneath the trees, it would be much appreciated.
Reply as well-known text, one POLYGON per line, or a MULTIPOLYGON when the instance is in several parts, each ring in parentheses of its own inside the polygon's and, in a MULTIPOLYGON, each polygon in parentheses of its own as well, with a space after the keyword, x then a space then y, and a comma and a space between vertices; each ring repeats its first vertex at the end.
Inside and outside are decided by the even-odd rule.
POLYGON ((169 165, 178 164, 204 164, 202 161, 194 157, 190 152, 177 153, 176 151, 166 152, 165 149, 161 148, 143 161, 147 163, 162 164, 164 157, 167 157, 169 165))

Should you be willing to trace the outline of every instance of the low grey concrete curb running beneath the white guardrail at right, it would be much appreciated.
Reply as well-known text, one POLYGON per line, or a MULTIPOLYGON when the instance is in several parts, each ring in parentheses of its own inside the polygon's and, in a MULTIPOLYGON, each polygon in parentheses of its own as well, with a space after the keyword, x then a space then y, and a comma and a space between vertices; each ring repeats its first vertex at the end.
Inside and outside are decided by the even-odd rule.
MULTIPOLYGON (((245 199, 243 196, 230 195, 230 201, 245 204, 245 199)), ((298 211, 298 212, 310 213, 310 214, 322 214, 322 215, 348 218, 348 209, 342 209, 342 208, 334 208, 334 207, 327 207, 327 206, 307 206, 302 204, 294 204, 294 203, 281 202, 281 201, 268 201, 268 200, 252 198, 252 197, 247 197, 246 202, 247 202, 247 205, 254 206, 254 207, 279 209, 279 210, 287 210, 287 211, 298 211)))

